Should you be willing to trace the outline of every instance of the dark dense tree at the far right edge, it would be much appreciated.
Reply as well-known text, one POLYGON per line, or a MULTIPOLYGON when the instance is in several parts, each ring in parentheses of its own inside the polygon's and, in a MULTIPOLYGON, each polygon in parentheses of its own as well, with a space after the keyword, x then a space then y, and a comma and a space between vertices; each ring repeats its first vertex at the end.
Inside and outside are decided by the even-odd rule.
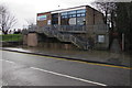
POLYGON ((125 50, 132 50, 132 2, 117 3, 117 29, 118 33, 125 35, 125 50))

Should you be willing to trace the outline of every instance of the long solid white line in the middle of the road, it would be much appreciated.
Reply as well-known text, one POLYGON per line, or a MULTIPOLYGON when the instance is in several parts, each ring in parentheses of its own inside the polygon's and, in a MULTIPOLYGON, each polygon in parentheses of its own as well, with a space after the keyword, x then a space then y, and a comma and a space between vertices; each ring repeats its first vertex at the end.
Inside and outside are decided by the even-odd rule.
POLYGON ((55 72, 51 72, 51 70, 45 70, 45 69, 41 69, 41 68, 36 68, 36 67, 31 67, 31 68, 32 69, 36 69, 36 70, 41 70, 41 72, 45 72, 45 73, 48 73, 48 74, 53 74, 53 75, 70 78, 70 79, 76 79, 76 80, 89 82, 89 84, 95 84, 95 85, 99 85, 99 86, 107 86, 105 84, 100 84, 100 82, 96 82, 96 81, 91 81, 91 80, 86 80, 86 79, 82 79, 82 78, 77 78, 77 77, 74 77, 74 76, 64 75, 64 74, 59 74, 59 73, 55 73, 55 72))

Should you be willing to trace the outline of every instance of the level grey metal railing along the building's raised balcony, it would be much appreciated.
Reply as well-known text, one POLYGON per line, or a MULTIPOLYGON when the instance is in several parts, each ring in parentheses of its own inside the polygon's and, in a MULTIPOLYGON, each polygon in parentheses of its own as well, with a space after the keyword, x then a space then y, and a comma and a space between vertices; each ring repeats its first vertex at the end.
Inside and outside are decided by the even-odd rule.
MULTIPOLYGON (((109 28, 106 24, 98 25, 44 25, 44 26, 30 26, 28 32, 43 32, 42 28, 50 28, 52 30, 61 31, 61 32, 107 32, 109 28)), ((25 31, 25 33, 28 33, 25 31)))

